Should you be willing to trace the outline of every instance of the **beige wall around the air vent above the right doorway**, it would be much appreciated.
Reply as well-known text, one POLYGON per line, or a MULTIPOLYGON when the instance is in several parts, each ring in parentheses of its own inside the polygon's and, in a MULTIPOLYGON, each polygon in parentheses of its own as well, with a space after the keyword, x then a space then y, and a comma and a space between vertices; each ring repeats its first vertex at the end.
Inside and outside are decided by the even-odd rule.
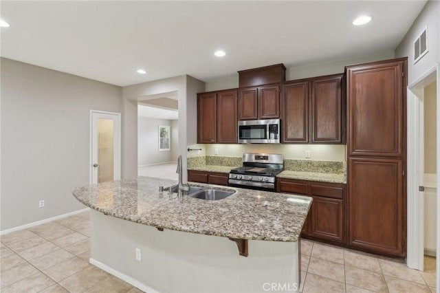
POLYGON ((408 85, 440 62, 440 1, 427 1, 396 48, 396 57, 408 56, 408 85), (428 25, 428 53, 414 64, 414 41, 428 25))

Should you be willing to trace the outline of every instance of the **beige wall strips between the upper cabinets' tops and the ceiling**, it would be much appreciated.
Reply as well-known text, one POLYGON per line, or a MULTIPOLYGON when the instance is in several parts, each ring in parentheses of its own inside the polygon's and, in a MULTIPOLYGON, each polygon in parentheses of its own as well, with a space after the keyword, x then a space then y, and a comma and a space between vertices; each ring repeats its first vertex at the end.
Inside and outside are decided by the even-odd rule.
MULTIPOLYGON (((344 72, 346 65, 373 62, 394 58, 394 51, 380 51, 368 56, 358 56, 347 58, 344 60, 333 60, 309 64, 300 67, 287 67, 286 80, 296 80, 300 78, 309 78, 314 76, 324 76, 328 74, 338 74, 344 72)), ((267 64, 270 65, 270 64, 267 64)), ((230 76, 221 76, 206 80, 206 91, 217 91, 219 89, 234 89, 239 87, 239 74, 231 74, 230 76)))

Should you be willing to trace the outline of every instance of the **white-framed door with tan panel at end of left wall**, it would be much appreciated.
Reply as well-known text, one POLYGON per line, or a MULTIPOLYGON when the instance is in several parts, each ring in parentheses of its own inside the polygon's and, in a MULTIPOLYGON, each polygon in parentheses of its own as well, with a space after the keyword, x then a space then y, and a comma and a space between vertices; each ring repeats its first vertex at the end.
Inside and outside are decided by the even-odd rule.
POLYGON ((121 177, 120 113, 90 111, 90 184, 121 177))

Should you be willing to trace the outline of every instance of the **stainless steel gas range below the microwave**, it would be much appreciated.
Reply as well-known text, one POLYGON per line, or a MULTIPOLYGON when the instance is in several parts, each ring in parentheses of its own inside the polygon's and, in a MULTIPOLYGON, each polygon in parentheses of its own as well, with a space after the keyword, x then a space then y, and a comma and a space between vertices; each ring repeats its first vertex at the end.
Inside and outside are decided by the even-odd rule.
POLYGON ((229 173, 229 185, 275 191, 276 175, 284 170, 283 155, 277 153, 243 153, 243 166, 229 173))

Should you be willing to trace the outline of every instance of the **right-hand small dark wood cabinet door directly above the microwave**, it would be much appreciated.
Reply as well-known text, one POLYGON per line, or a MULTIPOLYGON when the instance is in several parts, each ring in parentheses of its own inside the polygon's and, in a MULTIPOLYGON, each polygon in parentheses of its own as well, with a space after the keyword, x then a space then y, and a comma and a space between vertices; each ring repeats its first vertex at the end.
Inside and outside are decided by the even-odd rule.
POLYGON ((280 86, 259 88, 259 119, 280 118, 280 86))

